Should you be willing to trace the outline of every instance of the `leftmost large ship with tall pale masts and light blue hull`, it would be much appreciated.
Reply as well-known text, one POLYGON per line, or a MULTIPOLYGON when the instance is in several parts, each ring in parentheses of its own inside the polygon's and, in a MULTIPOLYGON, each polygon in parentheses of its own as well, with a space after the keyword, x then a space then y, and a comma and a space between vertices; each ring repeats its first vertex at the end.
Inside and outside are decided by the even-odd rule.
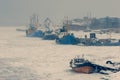
POLYGON ((42 30, 39 30, 38 16, 35 14, 30 18, 30 24, 26 30, 27 37, 42 37, 44 35, 42 30))

